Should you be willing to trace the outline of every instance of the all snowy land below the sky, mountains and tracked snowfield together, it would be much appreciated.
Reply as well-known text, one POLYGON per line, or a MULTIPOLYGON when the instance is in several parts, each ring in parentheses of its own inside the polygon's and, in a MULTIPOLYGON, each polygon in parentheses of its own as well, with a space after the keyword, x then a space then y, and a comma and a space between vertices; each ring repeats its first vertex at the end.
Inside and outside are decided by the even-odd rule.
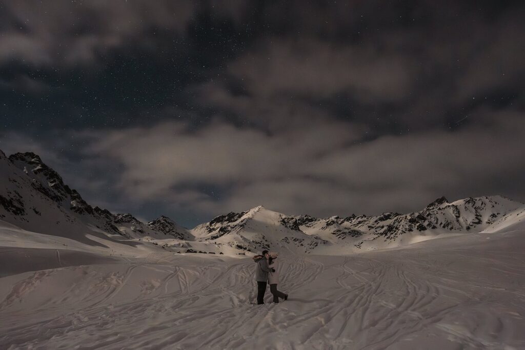
POLYGON ((32 153, 0 151, 0 181, 0 348, 525 348, 525 205, 508 198, 259 206, 188 230, 91 207, 32 153), (261 249, 289 300, 253 304, 261 249))

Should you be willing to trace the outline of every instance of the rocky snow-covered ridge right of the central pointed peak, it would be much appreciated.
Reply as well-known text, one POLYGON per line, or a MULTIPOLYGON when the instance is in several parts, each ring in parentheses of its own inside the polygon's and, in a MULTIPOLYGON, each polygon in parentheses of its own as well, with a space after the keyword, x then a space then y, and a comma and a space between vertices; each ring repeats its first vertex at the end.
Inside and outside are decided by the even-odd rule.
MULTIPOLYGON (((339 251, 359 252, 393 248, 417 241, 467 232, 481 232, 505 221, 523 203, 502 196, 466 198, 449 203, 438 198, 421 211, 409 214, 384 213, 346 218, 316 219, 296 216, 299 229, 333 242, 339 251)), ((327 251, 323 248, 322 251, 327 251)), ((320 251, 319 251, 320 252, 320 251)))

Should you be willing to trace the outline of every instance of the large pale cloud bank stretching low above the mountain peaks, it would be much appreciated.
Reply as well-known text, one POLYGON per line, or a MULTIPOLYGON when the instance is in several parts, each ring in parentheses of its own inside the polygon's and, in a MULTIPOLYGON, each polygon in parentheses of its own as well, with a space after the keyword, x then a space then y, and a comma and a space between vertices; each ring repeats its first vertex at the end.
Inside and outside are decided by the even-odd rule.
POLYGON ((367 142, 346 122, 271 135, 220 121, 196 132, 167 122, 110 131, 85 151, 123 165, 118 187, 127 196, 210 216, 257 205, 328 216, 416 210, 442 195, 525 198, 516 184, 525 171, 522 114, 480 110, 472 118, 455 133, 367 142))

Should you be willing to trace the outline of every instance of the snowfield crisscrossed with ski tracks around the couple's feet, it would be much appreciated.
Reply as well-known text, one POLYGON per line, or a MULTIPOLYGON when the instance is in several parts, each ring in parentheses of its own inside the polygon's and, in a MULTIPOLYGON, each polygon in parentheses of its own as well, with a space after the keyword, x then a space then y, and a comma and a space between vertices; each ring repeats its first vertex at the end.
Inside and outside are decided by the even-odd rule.
POLYGON ((21 273, 0 279, 0 348, 522 349, 521 236, 281 256, 290 299, 279 304, 269 288, 254 304, 248 258, 162 253, 21 273))

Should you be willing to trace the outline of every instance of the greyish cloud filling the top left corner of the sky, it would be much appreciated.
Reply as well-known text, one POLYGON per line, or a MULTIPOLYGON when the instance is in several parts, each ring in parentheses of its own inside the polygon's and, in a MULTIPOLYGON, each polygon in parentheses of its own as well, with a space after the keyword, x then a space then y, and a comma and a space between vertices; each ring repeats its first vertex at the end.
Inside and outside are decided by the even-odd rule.
POLYGON ((37 67, 93 63, 126 41, 144 43, 155 28, 184 33, 196 10, 191 1, 16 0, 3 6, 0 63, 21 60, 37 67))

